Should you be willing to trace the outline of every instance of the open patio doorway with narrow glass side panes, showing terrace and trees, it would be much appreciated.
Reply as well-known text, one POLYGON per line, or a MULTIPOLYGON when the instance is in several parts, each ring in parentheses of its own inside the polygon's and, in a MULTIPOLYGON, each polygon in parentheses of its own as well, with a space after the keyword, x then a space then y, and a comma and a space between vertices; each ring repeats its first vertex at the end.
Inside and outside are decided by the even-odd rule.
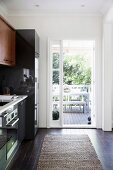
POLYGON ((95 41, 52 40, 48 127, 95 127, 95 41))

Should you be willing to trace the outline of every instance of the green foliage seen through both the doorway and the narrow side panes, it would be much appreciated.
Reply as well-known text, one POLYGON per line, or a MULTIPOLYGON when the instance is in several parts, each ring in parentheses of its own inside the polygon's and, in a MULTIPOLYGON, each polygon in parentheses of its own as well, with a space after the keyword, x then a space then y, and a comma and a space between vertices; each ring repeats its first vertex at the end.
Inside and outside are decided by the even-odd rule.
MULTIPOLYGON (((59 84, 59 54, 53 53, 53 84, 59 84)), ((86 56, 65 56, 63 61, 65 84, 91 84, 91 66, 86 56)))

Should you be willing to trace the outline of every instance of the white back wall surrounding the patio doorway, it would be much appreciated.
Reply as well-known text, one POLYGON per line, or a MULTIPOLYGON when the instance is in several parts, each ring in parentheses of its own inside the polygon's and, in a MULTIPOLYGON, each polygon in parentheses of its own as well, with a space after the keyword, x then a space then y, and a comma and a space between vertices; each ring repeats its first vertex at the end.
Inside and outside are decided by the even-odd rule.
POLYGON ((96 112, 97 127, 101 127, 101 17, 98 16, 10 16, 9 22, 16 28, 35 28, 40 36, 40 127, 46 127, 47 113, 47 39, 95 39, 96 48, 96 112))

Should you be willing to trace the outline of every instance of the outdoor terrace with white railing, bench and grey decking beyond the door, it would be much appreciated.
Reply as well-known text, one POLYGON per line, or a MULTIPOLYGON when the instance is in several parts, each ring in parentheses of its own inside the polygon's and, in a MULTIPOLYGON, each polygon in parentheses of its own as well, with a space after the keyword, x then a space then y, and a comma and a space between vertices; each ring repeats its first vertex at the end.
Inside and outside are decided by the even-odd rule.
MULTIPOLYGON (((91 86, 64 85, 63 122, 65 124, 88 124, 91 116, 91 86)), ((53 110, 60 111, 59 86, 53 86, 53 110)))

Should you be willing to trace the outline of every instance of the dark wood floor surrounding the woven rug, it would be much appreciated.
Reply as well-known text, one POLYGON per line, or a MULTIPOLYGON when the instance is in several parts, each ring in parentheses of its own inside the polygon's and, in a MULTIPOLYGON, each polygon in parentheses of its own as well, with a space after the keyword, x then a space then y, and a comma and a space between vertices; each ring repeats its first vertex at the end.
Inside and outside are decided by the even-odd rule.
POLYGON ((113 132, 96 129, 40 129, 34 141, 24 141, 10 170, 36 170, 46 134, 88 134, 104 170, 113 170, 113 132))

